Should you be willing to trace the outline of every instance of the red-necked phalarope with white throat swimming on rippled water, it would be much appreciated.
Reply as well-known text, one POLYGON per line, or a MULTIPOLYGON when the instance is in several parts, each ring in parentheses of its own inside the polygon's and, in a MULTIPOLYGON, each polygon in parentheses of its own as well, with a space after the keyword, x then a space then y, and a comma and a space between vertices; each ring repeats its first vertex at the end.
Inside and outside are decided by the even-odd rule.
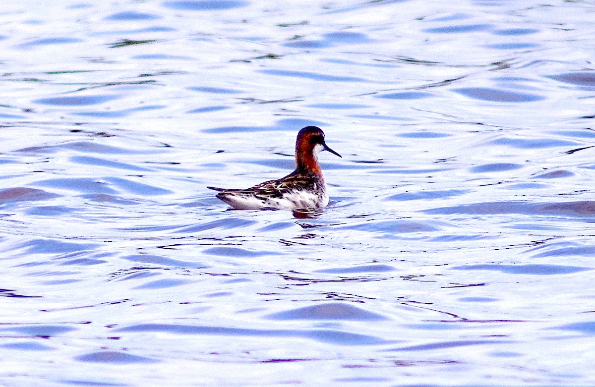
POLYGON ((297 133, 296 169, 286 177, 265 181, 246 190, 206 187, 236 210, 311 210, 328 204, 327 185, 318 163, 322 150, 342 157, 324 142, 324 132, 308 126, 297 133))

